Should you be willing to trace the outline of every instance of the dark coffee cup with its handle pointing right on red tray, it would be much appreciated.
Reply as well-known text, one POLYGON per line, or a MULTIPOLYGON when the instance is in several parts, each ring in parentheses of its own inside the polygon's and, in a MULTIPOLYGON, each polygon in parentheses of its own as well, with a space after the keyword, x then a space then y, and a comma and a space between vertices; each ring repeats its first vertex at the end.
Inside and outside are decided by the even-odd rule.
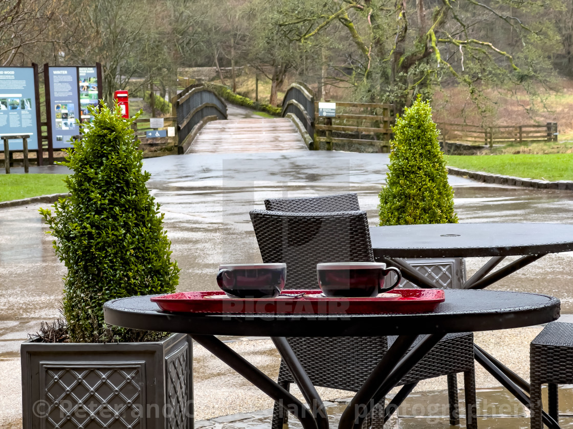
POLYGON ((319 287, 325 296, 368 297, 391 291, 400 284, 398 268, 386 268, 379 262, 338 262, 316 265, 319 287), (384 277, 390 272, 398 277, 393 285, 384 288, 384 277))

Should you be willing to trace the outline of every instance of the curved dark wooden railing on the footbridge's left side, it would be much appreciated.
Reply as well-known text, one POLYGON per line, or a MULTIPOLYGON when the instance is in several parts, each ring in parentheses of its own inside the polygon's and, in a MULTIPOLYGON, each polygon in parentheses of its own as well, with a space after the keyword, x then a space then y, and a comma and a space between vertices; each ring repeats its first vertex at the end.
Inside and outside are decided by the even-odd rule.
POLYGON ((187 86, 173 97, 173 116, 177 118, 178 152, 183 154, 199 130, 209 121, 227 118, 223 99, 202 85, 187 86))

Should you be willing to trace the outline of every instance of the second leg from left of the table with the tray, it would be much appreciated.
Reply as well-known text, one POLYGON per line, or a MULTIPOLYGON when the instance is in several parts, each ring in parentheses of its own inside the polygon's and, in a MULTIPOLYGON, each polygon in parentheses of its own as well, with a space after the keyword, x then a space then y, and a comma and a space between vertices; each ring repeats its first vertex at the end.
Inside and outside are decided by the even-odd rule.
POLYGON ((284 360, 289 371, 291 371, 291 375, 295 379, 297 386, 299 386, 300 391, 303 393, 304 399, 307 400, 307 404, 311 407, 311 412, 316 419, 318 428, 328 429, 328 415, 326 413, 326 407, 324 407, 318 392, 313 386, 311 380, 308 378, 307 373, 304 371, 304 368, 296 357, 291 345, 286 341, 285 337, 271 337, 271 339, 273 340, 274 345, 276 345, 282 360, 284 360))

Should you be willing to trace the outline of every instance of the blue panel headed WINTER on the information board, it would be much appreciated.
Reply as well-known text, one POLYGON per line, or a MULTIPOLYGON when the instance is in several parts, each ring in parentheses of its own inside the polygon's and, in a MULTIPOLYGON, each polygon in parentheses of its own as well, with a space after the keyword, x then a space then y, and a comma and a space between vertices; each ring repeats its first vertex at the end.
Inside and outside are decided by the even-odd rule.
POLYGON ((80 134, 76 118, 80 115, 78 67, 49 67, 49 103, 52 147, 69 148, 70 137, 80 134))

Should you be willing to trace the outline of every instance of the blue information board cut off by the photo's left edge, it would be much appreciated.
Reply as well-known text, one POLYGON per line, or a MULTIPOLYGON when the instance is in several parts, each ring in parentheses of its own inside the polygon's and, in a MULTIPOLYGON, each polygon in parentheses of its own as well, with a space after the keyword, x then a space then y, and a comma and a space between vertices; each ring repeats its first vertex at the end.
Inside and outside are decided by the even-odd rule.
MULTIPOLYGON (((0 67, 0 136, 29 134, 30 150, 38 149, 35 72, 34 67, 0 67)), ((22 140, 10 140, 10 150, 22 150, 22 140)))

